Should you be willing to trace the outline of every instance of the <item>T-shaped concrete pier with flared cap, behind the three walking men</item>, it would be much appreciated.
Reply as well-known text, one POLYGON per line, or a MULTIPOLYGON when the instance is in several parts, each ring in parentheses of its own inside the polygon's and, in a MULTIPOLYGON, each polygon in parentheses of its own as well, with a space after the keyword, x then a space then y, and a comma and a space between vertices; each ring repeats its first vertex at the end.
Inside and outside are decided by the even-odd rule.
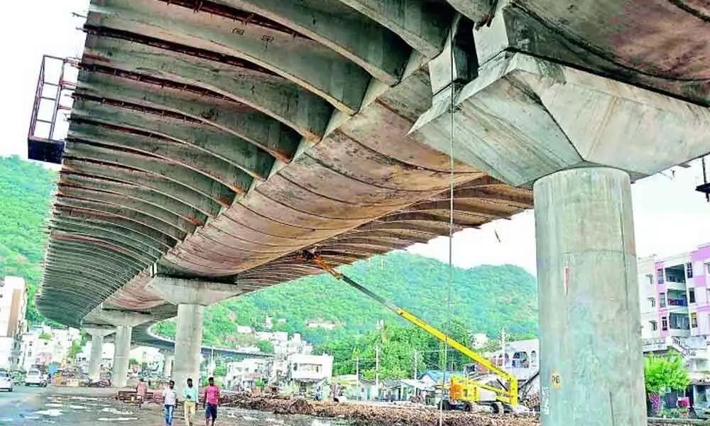
POLYGON ((237 286, 202 280, 186 280, 163 275, 153 277, 148 288, 174 305, 178 305, 175 319, 175 368, 173 381, 178 395, 192 378, 200 386, 200 349, 204 307, 241 293, 237 286))

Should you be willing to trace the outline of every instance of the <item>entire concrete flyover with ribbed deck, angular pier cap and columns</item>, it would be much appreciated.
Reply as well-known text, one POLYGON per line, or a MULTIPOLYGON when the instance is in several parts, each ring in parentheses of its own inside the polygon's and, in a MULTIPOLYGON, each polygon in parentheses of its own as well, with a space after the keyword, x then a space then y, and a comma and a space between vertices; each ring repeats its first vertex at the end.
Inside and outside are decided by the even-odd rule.
POLYGON ((456 229, 534 190, 541 377, 564 383, 542 422, 643 425, 630 182, 710 151, 709 21, 694 0, 94 0, 38 308, 122 336, 177 315, 182 377, 205 306, 319 273, 295 251, 447 234, 451 183, 456 229))

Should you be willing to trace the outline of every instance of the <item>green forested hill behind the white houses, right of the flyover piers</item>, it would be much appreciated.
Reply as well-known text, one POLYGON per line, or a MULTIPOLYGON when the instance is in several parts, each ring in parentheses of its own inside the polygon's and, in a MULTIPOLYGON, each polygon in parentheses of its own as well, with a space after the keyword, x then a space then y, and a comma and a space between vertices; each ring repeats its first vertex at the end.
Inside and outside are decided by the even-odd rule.
MULTIPOLYGON (((448 318, 466 324, 471 332, 497 335, 501 328, 513 334, 537 331, 535 278, 518 266, 454 268, 449 294, 449 266, 405 251, 373 257, 342 268, 342 272, 432 324, 448 318), (450 310, 447 310, 450 306, 450 310)), ((397 315, 329 275, 302 278, 275 285, 209 307, 205 341, 231 344, 234 324, 263 329, 267 316, 274 329, 300 332, 309 342, 322 343, 369 332, 378 320, 403 323, 397 315), (333 322, 333 330, 308 328, 309 320, 333 322), (207 325, 209 324, 209 325, 207 325)), ((174 325, 161 324, 159 332, 172 337, 174 325)))

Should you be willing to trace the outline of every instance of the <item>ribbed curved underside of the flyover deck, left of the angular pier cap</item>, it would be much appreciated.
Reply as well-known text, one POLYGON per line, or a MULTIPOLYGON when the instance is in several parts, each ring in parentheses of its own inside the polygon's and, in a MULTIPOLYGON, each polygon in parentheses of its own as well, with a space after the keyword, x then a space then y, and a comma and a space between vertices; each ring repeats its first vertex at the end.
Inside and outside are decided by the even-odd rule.
POLYGON ((476 227, 528 190, 408 136, 452 9, 410 1, 94 0, 37 305, 172 317, 148 268, 237 293, 476 227))

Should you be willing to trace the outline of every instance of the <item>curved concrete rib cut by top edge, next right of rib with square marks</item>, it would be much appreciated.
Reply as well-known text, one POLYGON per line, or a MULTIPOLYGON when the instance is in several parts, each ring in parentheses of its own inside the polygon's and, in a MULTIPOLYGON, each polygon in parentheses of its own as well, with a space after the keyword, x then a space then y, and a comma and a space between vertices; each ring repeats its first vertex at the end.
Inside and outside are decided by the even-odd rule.
MULTIPOLYGON (((397 84, 410 55, 398 35, 361 16, 343 16, 297 1, 223 0, 237 9, 256 13, 326 45, 388 86, 397 84)), ((328 8, 324 4, 323 9, 328 8)))

